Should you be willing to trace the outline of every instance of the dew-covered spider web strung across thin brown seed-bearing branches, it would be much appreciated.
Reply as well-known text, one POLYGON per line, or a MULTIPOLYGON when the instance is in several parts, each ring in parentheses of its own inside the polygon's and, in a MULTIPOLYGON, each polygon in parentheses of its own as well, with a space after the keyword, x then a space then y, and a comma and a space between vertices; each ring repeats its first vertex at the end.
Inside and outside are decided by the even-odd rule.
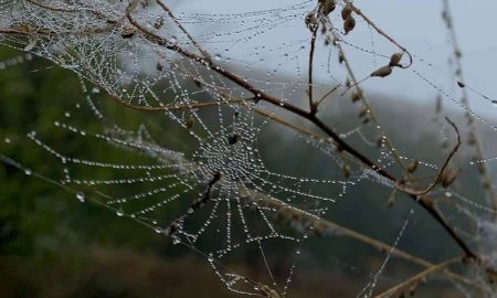
MULTIPOLYGON (((0 43, 25 53, 0 62, 0 71, 36 62, 29 72, 56 65, 77 82, 76 95, 61 103, 59 115, 33 127, 24 140, 15 138, 43 152, 47 167, 31 168, 3 153, 2 161, 195 251, 236 294, 290 296, 309 237, 352 235, 364 241, 329 224, 337 205, 351 200, 361 204, 357 195, 371 188, 381 190, 380 200, 392 206, 403 189, 422 188, 445 169, 443 161, 459 135, 474 146, 466 138, 476 135, 472 125, 487 135, 497 129, 491 115, 472 109, 459 92, 467 91, 485 107, 496 102, 452 74, 452 64, 442 70, 360 11, 347 12, 348 1, 336 1, 334 10, 324 7, 331 2, 212 9, 209 1, 0 0, 0 43), (405 81, 438 96, 425 113, 392 105, 395 116, 434 131, 434 141, 415 140, 434 155, 398 146, 402 141, 392 135, 399 137, 399 130, 366 92, 383 86, 395 92, 405 81), (368 152, 373 167, 313 126, 310 116, 306 119, 299 110, 313 108, 308 98, 336 137, 368 152), (457 131, 444 120, 441 103, 447 114, 461 116, 457 131), (290 257, 276 272, 281 251, 290 257), (252 277, 229 266, 244 254, 264 268, 263 275, 252 277)), ((2 147, 11 142, 7 136, 2 147)), ((487 156, 491 141, 485 145, 477 155, 466 149, 456 162, 489 183, 496 158, 487 156)), ((437 210, 450 214, 463 237, 478 244, 479 236, 461 219, 495 233, 487 225, 495 214, 493 187, 475 199, 463 183, 452 184, 458 170, 450 170, 437 180, 443 185, 424 194, 451 201, 452 213, 445 205, 437 210)), ((416 222, 414 214, 423 213, 414 203, 401 212, 390 234, 378 233, 390 248, 381 248, 385 257, 364 274, 368 284, 358 297, 371 297, 380 281, 399 281, 384 270, 416 222)), ((336 265, 356 270, 339 258, 336 265)))

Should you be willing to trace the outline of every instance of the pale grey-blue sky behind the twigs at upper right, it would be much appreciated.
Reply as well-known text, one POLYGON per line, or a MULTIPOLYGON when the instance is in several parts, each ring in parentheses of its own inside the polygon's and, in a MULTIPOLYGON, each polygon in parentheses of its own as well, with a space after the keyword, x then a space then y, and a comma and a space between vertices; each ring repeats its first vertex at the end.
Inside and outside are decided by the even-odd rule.
MULTIPOLYGON (((187 13, 236 13, 281 8, 302 1, 192 0, 178 1, 176 10, 177 12, 187 13)), ((467 85, 483 92, 491 98, 497 97, 497 34, 494 32, 497 29, 497 18, 495 17, 497 1, 453 0, 451 3, 456 31, 464 53, 463 63, 467 85)), ((384 29, 385 32, 389 32, 401 44, 405 45, 413 54, 426 61, 426 63, 415 61, 414 70, 426 75, 431 82, 443 88, 444 92, 450 93, 454 98, 457 97, 458 91, 454 86, 454 81, 450 78, 447 67, 450 47, 447 46, 447 33, 441 20, 442 0, 357 0, 356 4, 367 12, 380 28, 384 29), (432 66, 429 66, 427 63, 432 66)), ((302 20, 297 21, 302 22, 302 20)), ((191 29, 193 31, 201 30, 201 28, 195 26, 191 29)), ((306 40, 309 36, 309 32, 306 31, 304 25, 289 24, 258 38, 262 39, 260 43, 268 42, 275 46, 285 39, 284 36, 288 35, 292 36, 289 40, 306 40)), ((358 23, 357 32, 352 32, 350 39, 352 43, 353 41, 358 41, 362 45, 371 45, 369 43, 371 33, 363 23, 358 23), (368 42, 364 43, 364 41, 368 42)), ((390 54, 394 50, 391 46, 389 47, 389 44, 378 35, 374 36, 373 42, 376 43, 374 50, 380 53, 390 54)), ((253 51, 253 44, 246 44, 246 49, 243 49, 242 45, 241 49, 236 50, 240 51, 240 56, 247 55, 250 51, 253 51)), ((234 53, 235 51, 233 50, 230 52, 231 55, 236 56, 234 53)), ((322 57, 320 62, 325 63, 325 58, 322 57)), ((269 61, 271 56, 264 63, 255 65, 255 67, 274 67, 269 61)), ((305 62, 305 58, 303 62, 305 62)), ((376 62, 371 57, 358 57, 355 65, 359 74, 358 76, 361 77, 369 74, 372 67, 374 67, 373 63, 376 62)), ((286 66, 285 63, 279 66, 282 72, 285 72, 285 74, 295 74, 295 65, 288 63, 289 65, 286 66)), ((317 71, 317 76, 320 83, 327 84, 329 82, 329 76, 324 72, 317 71)), ((431 100, 435 96, 435 89, 419 79, 412 72, 395 72, 392 79, 387 84, 377 83, 368 82, 364 86, 376 92, 402 95, 403 97, 416 98, 416 100, 431 100)), ((488 102, 476 94, 470 93, 470 96, 473 105, 478 109, 483 110, 491 107, 488 102)))

